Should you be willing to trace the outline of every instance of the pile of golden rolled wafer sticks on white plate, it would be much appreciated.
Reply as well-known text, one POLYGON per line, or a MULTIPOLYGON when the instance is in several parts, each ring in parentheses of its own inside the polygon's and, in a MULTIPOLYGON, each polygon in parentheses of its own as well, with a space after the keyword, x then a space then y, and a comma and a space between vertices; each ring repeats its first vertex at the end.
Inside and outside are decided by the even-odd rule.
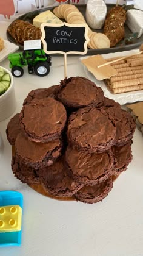
MULTIPOLYGON (((119 59, 115 57, 106 59, 107 62, 119 59)), ((143 89, 143 54, 128 57, 119 62, 112 63, 118 74, 105 79, 107 87, 113 94, 126 93, 143 89)))

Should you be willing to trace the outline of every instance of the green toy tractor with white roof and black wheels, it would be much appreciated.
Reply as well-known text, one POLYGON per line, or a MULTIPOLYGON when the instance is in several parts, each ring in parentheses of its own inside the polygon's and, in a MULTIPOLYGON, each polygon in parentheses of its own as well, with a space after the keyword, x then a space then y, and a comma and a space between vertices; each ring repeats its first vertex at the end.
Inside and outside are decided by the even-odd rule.
POLYGON ((41 49, 41 40, 24 41, 24 52, 8 55, 10 68, 15 77, 22 77, 24 66, 28 66, 28 73, 47 76, 50 72, 51 57, 41 49))

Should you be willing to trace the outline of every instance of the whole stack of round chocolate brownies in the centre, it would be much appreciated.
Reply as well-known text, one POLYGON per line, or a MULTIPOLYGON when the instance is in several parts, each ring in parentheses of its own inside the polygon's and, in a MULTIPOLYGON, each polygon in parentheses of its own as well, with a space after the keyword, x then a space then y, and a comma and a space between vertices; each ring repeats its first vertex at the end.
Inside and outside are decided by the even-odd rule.
POLYGON ((53 197, 102 201, 132 160, 135 121, 84 77, 30 91, 7 125, 13 174, 53 197))

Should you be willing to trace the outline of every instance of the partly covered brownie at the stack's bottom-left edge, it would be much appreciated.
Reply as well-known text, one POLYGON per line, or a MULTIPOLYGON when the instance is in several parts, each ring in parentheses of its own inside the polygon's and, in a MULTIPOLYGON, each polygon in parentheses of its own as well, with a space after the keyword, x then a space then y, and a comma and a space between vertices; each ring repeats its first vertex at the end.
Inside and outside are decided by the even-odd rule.
POLYGON ((12 171, 14 176, 21 180, 22 183, 39 183, 39 171, 27 165, 23 165, 16 155, 12 158, 12 171))

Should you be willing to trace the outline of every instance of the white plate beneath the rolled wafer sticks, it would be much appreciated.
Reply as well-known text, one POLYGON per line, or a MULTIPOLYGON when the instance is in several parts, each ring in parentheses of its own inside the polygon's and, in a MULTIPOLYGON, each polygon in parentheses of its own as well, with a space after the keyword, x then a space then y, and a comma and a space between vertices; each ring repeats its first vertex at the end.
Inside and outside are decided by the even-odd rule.
MULTIPOLYGON (((107 58, 112 58, 112 57, 122 57, 125 55, 130 55, 130 54, 135 54, 136 52, 138 52, 138 50, 131 50, 131 51, 124 51, 124 52, 114 52, 114 53, 109 53, 109 54, 102 54, 102 57, 104 57, 105 59, 107 58)), ((85 59, 88 57, 84 57, 81 59, 85 59)), ((90 79, 91 81, 95 82, 96 85, 98 85, 99 87, 102 88, 102 90, 104 91, 104 95, 110 99, 114 99, 116 102, 119 102, 119 104, 124 105, 127 103, 133 103, 136 101, 143 101, 143 90, 140 91, 131 91, 129 93, 119 93, 119 94, 112 94, 107 86, 105 85, 105 83, 103 81, 99 81, 95 78, 95 76, 93 76, 93 74, 90 73, 90 71, 88 71, 87 67, 85 65, 84 66, 84 71, 86 74, 86 77, 88 79, 90 79)))

